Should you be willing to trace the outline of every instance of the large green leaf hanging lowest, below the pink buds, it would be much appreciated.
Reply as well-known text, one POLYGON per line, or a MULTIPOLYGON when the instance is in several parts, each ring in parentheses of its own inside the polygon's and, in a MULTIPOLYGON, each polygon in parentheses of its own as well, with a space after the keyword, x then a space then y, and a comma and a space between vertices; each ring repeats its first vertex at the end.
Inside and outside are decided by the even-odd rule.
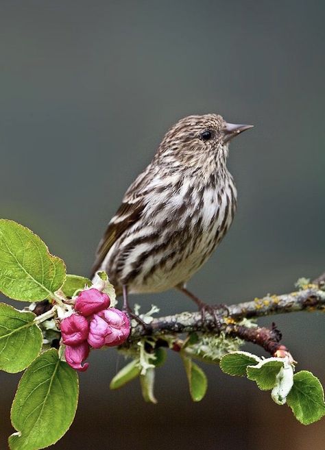
POLYGON ((38 450, 57 442, 69 429, 78 397, 77 373, 51 349, 27 368, 12 403, 11 450, 38 450))

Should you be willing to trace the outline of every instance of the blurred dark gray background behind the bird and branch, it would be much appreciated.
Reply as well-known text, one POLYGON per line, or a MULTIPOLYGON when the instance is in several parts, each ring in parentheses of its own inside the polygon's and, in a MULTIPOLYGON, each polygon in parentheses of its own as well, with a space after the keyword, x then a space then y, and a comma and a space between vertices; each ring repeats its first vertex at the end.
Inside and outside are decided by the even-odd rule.
MULTIPOLYGON (((293 290, 324 261, 325 58, 322 1, 0 1, 1 217, 31 228, 69 273, 88 275, 106 223, 163 134, 218 112, 254 129, 230 145, 234 225, 190 286, 210 303, 293 290)), ((178 292, 136 301, 194 310, 178 292)), ((17 304, 17 303, 16 303, 17 304)), ((324 316, 267 318, 298 369, 325 384, 324 316)), ((260 355, 263 351, 254 349, 260 355)), ((177 355, 158 370, 158 405, 123 366, 93 352, 63 449, 324 450, 324 420, 304 427, 252 382, 206 366, 191 403, 177 355)), ((1 373, 1 448, 20 375, 1 373)))

